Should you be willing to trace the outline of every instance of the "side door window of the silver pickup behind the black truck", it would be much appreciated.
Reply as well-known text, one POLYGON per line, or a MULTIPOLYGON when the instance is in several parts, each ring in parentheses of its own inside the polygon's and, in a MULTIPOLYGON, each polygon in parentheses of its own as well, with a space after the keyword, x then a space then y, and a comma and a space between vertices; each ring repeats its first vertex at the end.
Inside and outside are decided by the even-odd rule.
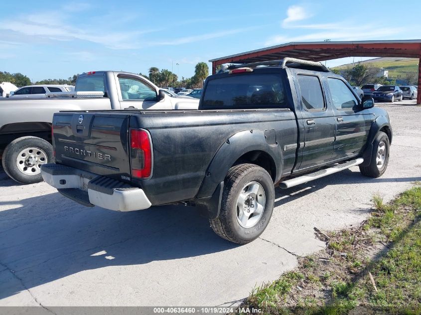
POLYGON ((156 101, 156 91, 140 80, 133 78, 119 78, 122 99, 137 101, 156 101))

